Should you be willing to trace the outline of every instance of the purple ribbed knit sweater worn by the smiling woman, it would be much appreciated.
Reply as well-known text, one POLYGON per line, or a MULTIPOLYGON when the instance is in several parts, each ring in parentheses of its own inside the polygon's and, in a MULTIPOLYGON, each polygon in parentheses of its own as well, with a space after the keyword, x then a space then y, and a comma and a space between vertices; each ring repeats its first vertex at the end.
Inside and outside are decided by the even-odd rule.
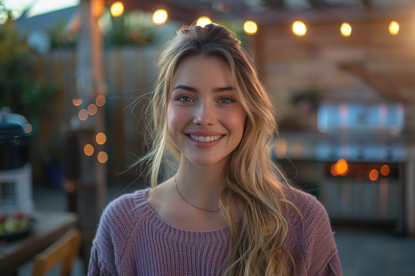
MULTIPOLYGON (((195 231, 172 226, 146 203, 149 189, 125 194, 105 208, 93 240, 88 276, 222 275, 229 228, 195 231)), ((293 208, 285 214, 288 234, 283 245, 295 261, 297 275, 342 275, 325 208, 300 190, 287 192, 286 198, 304 216, 303 230, 293 208)), ((286 263, 292 269, 287 257, 286 263)))

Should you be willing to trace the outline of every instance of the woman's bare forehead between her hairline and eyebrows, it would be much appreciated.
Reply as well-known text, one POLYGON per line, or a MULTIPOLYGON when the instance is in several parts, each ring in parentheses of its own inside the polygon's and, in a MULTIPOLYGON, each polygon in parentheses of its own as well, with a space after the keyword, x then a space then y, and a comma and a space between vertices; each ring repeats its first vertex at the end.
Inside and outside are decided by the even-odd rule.
POLYGON ((232 86, 232 74, 228 63, 221 58, 193 56, 176 68, 172 84, 195 88, 232 86))

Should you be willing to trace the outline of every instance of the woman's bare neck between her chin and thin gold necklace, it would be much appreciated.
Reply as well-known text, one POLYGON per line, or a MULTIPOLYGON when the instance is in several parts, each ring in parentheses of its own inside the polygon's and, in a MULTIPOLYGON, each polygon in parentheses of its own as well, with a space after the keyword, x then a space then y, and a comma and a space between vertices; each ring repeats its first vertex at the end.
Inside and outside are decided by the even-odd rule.
POLYGON ((210 166, 198 166, 182 155, 176 174, 177 188, 190 203, 208 210, 219 208, 219 196, 225 189, 227 158, 210 166))

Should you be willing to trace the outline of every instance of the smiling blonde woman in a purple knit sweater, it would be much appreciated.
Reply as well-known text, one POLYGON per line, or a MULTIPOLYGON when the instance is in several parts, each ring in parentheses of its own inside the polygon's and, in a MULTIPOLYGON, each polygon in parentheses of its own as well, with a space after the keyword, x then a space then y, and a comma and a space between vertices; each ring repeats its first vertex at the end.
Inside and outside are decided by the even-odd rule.
POLYGON ((251 53, 225 27, 185 26, 151 92, 151 189, 111 202, 89 275, 341 275, 327 212, 288 185, 251 53), (176 175, 157 185, 166 150, 176 175))

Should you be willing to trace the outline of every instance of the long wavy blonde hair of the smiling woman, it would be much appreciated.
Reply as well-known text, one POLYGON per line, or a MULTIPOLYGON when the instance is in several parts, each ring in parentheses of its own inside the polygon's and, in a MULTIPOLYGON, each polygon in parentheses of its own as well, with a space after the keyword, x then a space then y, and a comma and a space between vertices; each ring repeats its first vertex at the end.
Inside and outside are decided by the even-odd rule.
POLYGON ((156 194, 166 149, 178 153, 171 143, 166 144, 167 104, 173 74, 181 61, 195 55, 222 58, 229 64, 232 87, 247 114, 242 140, 226 165, 226 188, 219 198, 231 233, 224 275, 288 275, 283 253, 291 260, 295 274, 294 259, 283 247, 288 231, 283 209, 288 206, 298 209, 286 200, 284 191, 290 185, 283 172, 271 162, 267 143, 277 133, 271 101, 258 79, 251 51, 241 46, 232 31, 215 24, 183 26, 166 43, 159 58, 159 75, 149 94, 149 152, 134 165, 143 161, 148 165, 149 182, 156 194), (237 200, 242 215, 239 226, 230 213, 232 199, 237 200))

